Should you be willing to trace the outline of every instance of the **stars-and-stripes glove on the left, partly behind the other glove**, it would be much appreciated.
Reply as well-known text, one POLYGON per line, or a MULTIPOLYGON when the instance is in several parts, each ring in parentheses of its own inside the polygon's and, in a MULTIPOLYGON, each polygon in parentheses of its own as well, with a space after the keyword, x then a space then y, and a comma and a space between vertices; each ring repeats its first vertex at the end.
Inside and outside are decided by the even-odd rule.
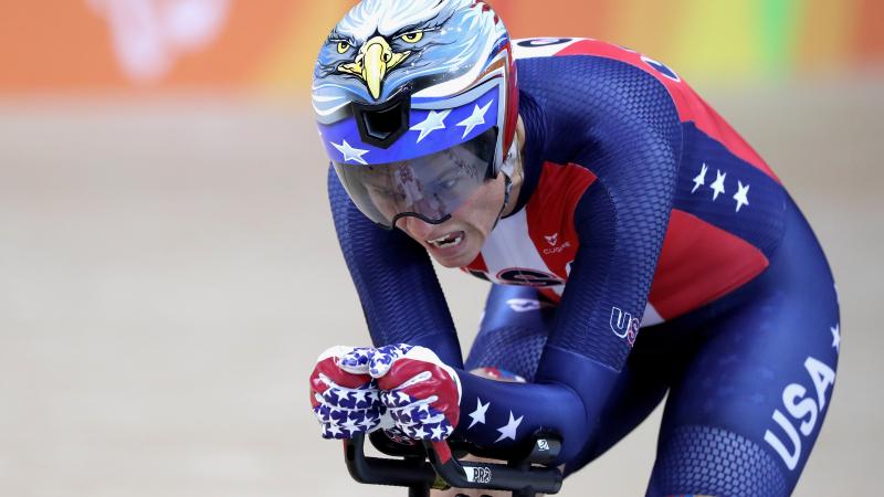
POLYGON ((324 438, 350 438, 378 429, 383 414, 377 382, 368 374, 375 349, 332 347, 311 374, 311 404, 324 438))

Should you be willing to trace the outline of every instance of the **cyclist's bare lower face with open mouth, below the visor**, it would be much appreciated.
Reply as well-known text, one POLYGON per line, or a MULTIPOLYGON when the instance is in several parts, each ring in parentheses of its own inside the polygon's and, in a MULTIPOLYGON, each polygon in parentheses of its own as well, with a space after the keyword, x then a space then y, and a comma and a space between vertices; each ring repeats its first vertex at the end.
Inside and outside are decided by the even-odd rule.
POLYGON ((466 266, 478 256, 504 203, 503 175, 485 181, 442 224, 400 218, 396 225, 427 248, 445 267, 466 266))

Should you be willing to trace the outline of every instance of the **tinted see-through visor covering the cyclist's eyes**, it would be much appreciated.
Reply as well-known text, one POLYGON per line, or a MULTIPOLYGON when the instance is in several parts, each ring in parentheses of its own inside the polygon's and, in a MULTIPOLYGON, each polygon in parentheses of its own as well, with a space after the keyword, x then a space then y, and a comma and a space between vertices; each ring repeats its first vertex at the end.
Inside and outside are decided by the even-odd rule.
POLYGON ((451 218, 491 177, 497 129, 470 141, 400 162, 354 166, 333 162, 356 207, 392 229, 404 215, 439 224, 451 218))

